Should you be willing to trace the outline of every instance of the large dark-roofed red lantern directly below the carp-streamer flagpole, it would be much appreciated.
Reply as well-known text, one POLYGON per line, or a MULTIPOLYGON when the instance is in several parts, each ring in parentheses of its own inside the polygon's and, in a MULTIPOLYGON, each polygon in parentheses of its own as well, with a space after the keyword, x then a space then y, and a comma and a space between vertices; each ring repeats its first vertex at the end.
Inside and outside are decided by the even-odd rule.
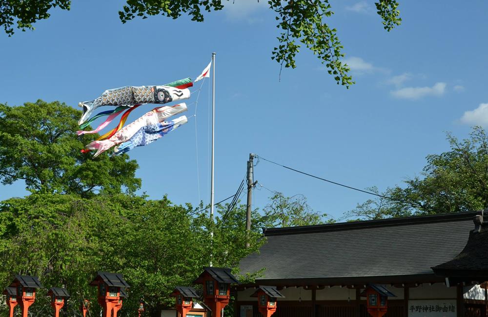
POLYGON ((239 284, 230 269, 218 267, 205 267, 193 282, 203 284, 203 302, 212 311, 212 317, 221 317, 230 300, 230 284, 239 284))

